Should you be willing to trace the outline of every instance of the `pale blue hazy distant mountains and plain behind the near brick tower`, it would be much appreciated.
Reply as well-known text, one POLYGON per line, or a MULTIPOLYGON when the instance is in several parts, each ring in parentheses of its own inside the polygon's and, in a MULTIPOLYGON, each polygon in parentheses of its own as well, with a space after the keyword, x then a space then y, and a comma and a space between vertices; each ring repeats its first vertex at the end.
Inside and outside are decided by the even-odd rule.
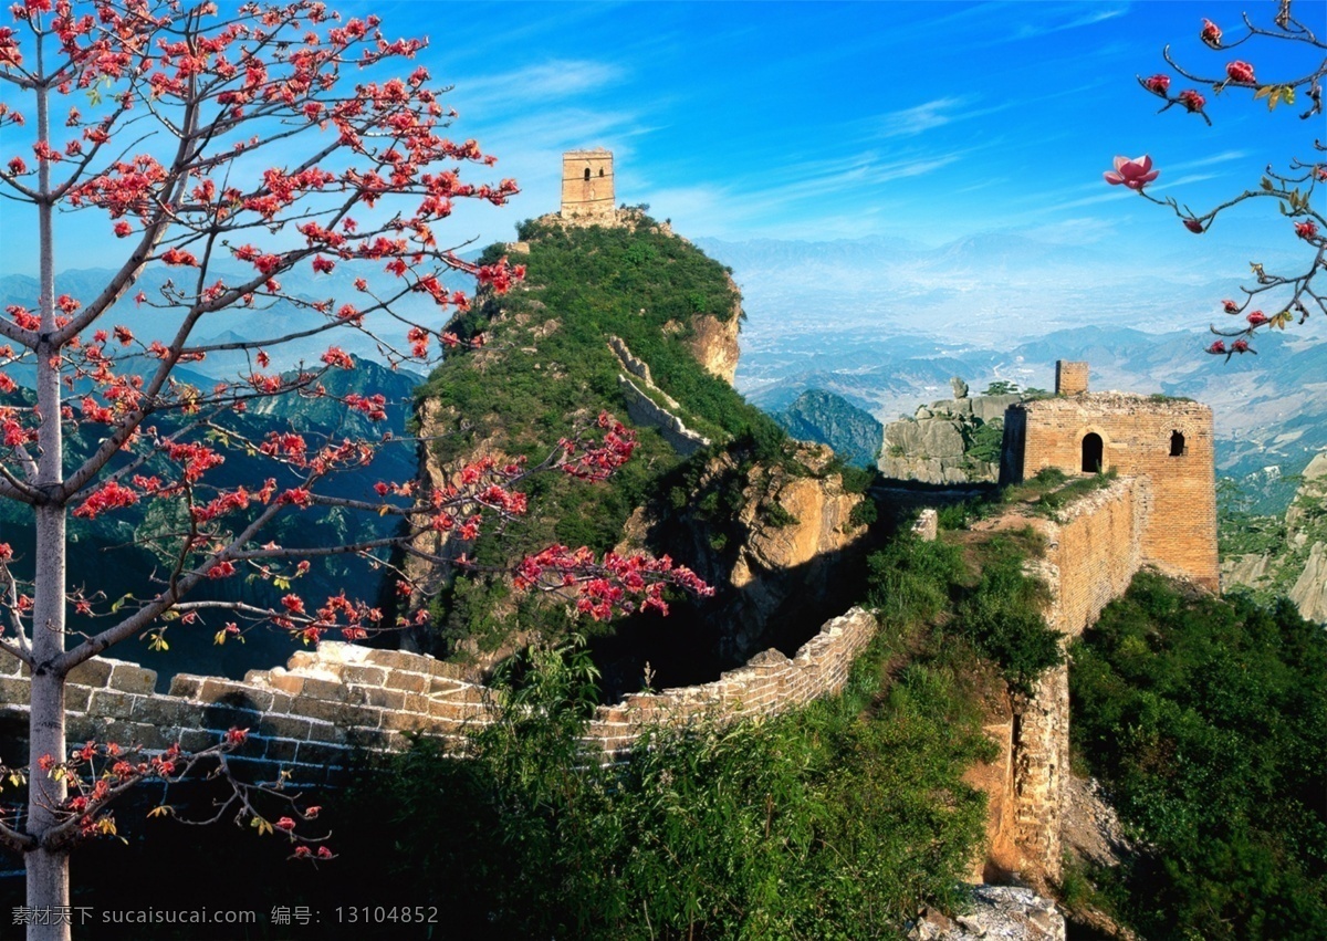
POLYGON ((1216 300, 1238 296, 1257 246, 1194 239, 1154 256, 979 234, 937 248, 889 239, 699 240, 731 265, 747 323, 736 385, 779 411, 823 389, 888 422, 947 394, 950 376, 1051 388, 1087 360, 1093 389, 1213 406, 1222 472, 1298 472, 1327 449, 1327 337, 1314 323, 1259 337, 1258 356, 1202 353, 1216 300), (1208 253, 1201 264, 1190 252, 1208 253), (1209 277, 1204 271, 1235 272, 1209 277))

